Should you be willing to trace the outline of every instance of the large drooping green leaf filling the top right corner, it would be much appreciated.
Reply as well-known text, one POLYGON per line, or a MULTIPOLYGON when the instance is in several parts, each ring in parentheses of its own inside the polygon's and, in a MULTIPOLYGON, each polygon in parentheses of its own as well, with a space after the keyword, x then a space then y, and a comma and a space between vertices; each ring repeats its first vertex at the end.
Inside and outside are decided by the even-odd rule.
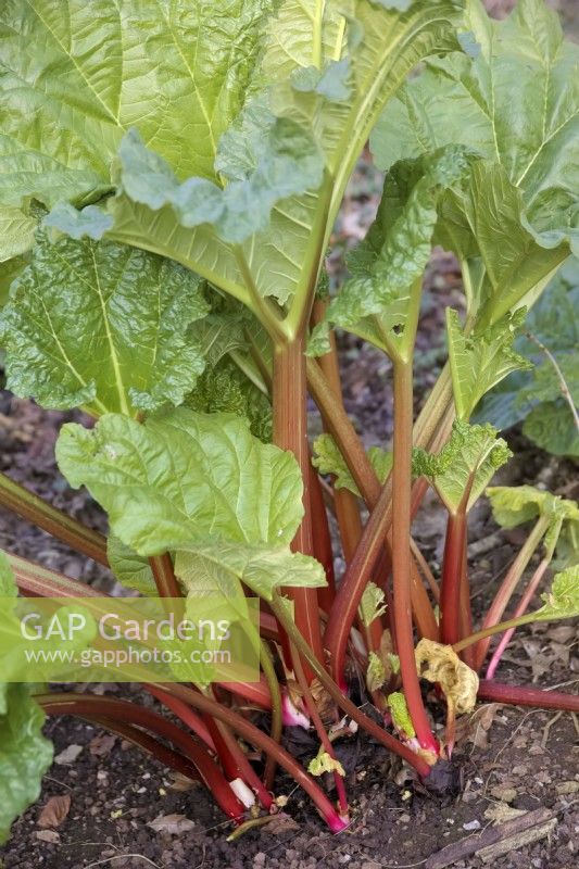
POLYGON ((542 0, 520 0, 504 22, 468 0, 466 24, 478 55, 430 61, 372 147, 383 168, 449 143, 481 154, 441 209, 439 240, 464 262, 471 313, 486 308, 488 324, 532 302, 579 243, 579 47, 542 0))

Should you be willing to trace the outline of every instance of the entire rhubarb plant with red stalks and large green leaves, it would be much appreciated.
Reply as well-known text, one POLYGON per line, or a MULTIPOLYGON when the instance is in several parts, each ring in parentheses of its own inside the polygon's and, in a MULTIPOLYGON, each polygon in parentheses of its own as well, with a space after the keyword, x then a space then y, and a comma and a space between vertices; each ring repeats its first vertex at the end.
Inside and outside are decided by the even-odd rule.
MULTIPOLYGON (((468 513, 511 455, 473 415, 529 369, 514 349, 525 310, 578 244, 579 50, 554 13, 540 0, 503 23, 478 0, 66 11, 61 0, 0 11, 0 338, 9 389, 85 413, 62 428, 56 459, 105 511, 109 536, 9 476, 0 504, 127 591, 182 599, 190 613, 207 595, 240 609, 259 599, 260 672, 146 684, 179 725, 116 697, 7 689, 30 722, 18 738, 21 711, 5 718, 7 793, 17 740, 23 763, 26 739, 42 747, 26 790, 3 801, 0 833, 49 763, 43 714, 88 718, 200 779, 242 832, 274 816, 277 766, 331 830, 347 827, 333 743, 356 730, 437 791, 455 716, 477 694, 578 710, 572 695, 478 677, 489 637, 532 620, 500 621, 540 545, 524 608, 563 541, 565 570, 534 618, 577 615, 577 505, 544 494, 520 507, 536 525, 478 632, 466 559, 468 513), (387 171, 380 206, 327 299, 325 255, 368 137, 387 171), (435 244, 460 260, 466 315, 448 311, 449 364, 415 419, 435 244), (392 365, 392 443, 367 452, 341 399, 344 329, 392 365), (324 425, 312 445, 307 395, 324 425), (412 537, 429 486, 448 513, 439 579, 412 537), (442 742, 424 680, 446 706, 442 742), (350 697, 364 681, 377 716, 350 697), (284 727, 314 734, 306 767, 284 727)), ((95 596, 8 563, 25 595, 95 596)))

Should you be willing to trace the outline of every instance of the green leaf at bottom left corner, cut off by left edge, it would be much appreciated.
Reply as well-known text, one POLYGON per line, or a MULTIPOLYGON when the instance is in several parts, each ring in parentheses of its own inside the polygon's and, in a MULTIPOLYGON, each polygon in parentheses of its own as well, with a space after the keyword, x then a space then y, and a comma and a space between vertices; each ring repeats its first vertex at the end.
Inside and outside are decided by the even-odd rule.
POLYGON ((52 763, 52 745, 42 736, 45 714, 30 685, 3 685, 0 715, 0 844, 12 821, 40 796, 42 776, 52 763))

